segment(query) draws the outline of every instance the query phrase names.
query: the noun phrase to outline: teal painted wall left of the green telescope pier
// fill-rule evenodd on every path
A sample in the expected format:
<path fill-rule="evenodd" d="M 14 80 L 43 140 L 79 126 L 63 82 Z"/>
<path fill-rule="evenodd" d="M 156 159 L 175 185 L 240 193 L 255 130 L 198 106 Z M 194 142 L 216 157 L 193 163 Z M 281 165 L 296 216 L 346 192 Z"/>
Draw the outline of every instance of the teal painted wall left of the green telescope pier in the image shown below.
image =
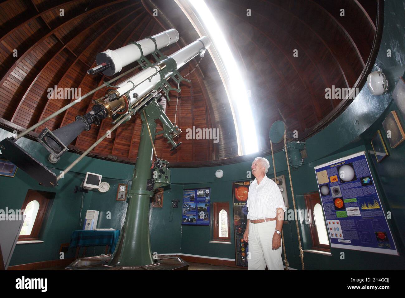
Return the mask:
<path fill-rule="evenodd" d="M 0 139 L 10 136 L 10 133 L 0 130 Z M 47 161 L 47 151 L 41 146 L 29 139 L 20 139 L 18 144 L 31 152 L 41 163 L 52 168 L 53 165 Z M 66 168 L 79 155 L 68 152 L 53 171 L 58 173 Z M 99 173 L 103 175 L 102 181 L 110 184 L 110 190 L 107 193 L 89 191 L 83 199 L 83 210 L 81 212 L 82 220 L 85 217 L 86 210 L 99 210 L 98 227 L 121 229 L 124 223 L 126 213 L 126 202 L 115 201 L 119 183 L 131 183 L 133 165 L 126 165 L 93 159 L 86 157 L 83 163 L 80 163 L 71 172 L 65 175 L 64 179 L 59 181 L 58 187 L 43 187 L 28 176 L 21 169 L 17 169 L 14 178 L 0 176 L 0 209 L 21 209 L 26 194 L 29 189 L 49 191 L 55 193 L 55 199 L 51 206 L 49 217 L 43 223 L 43 229 L 40 232 L 40 240 L 43 243 L 17 244 L 10 266 L 27 264 L 32 262 L 47 261 L 59 259 L 60 244 L 70 242 L 72 231 L 79 229 L 81 208 L 81 198 L 83 193 L 73 193 L 75 185 L 80 185 L 86 172 Z M 111 212 L 111 219 L 107 219 L 106 212 Z M 83 221 L 82 224 L 83 225 Z M 0 222 L 1 227 L 1 222 Z M 95 247 L 89 249 L 87 255 L 97 255 L 104 253 L 104 247 Z M 75 251 L 70 250 L 65 258 L 74 257 Z"/>

